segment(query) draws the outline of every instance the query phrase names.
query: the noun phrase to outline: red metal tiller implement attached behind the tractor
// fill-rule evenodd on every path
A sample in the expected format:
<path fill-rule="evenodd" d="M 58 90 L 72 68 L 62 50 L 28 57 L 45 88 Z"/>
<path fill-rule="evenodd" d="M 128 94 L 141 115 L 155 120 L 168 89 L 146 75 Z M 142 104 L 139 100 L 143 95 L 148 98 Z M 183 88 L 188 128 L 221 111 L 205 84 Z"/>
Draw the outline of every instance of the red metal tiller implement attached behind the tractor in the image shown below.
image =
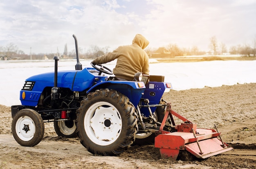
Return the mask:
<path fill-rule="evenodd" d="M 168 116 L 172 125 L 175 126 L 175 132 L 163 130 Z M 181 125 L 175 125 L 173 116 L 184 122 Z M 216 131 L 214 129 L 197 129 L 196 124 L 171 110 L 170 103 L 167 104 L 162 125 L 156 135 L 155 147 L 160 149 L 162 158 L 176 160 L 180 151 L 184 150 L 189 151 L 197 158 L 208 158 L 233 149 L 222 141 L 217 127 Z"/>

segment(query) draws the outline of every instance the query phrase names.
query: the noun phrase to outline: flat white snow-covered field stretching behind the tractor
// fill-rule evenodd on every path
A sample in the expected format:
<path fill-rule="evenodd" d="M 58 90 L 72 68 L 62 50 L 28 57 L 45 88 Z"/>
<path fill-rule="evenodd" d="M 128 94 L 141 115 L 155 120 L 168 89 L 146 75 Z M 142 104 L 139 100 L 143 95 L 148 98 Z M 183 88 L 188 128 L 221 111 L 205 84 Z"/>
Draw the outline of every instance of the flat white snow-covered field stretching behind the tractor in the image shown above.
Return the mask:
<path fill-rule="evenodd" d="M 150 75 L 164 75 L 174 90 L 185 90 L 237 83 L 256 82 L 256 60 L 206 61 L 160 63 L 150 60 Z M 91 67 L 91 60 L 80 60 L 84 67 Z M 74 70 L 76 60 L 59 60 L 58 70 Z M 113 69 L 115 61 L 104 64 Z M 54 71 L 54 60 L 0 61 L 0 105 L 20 105 L 19 93 L 25 79 Z"/>

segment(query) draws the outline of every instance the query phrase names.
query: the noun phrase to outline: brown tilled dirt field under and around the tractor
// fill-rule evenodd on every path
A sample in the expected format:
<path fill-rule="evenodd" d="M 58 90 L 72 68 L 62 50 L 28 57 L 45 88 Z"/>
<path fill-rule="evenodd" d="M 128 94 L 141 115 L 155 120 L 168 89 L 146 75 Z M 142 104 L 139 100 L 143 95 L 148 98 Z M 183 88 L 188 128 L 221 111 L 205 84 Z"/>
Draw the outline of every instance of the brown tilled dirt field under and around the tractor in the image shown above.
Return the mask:
<path fill-rule="evenodd" d="M 0 169 L 256 168 L 256 83 L 169 91 L 164 100 L 198 127 L 217 125 L 222 139 L 234 150 L 192 161 L 162 159 L 153 145 L 134 146 L 115 157 L 93 156 L 78 138 L 58 137 L 52 123 L 45 124 L 45 135 L 38 145 L 22 147 L 11 134 L 11 108 L 0 105 Z"/>

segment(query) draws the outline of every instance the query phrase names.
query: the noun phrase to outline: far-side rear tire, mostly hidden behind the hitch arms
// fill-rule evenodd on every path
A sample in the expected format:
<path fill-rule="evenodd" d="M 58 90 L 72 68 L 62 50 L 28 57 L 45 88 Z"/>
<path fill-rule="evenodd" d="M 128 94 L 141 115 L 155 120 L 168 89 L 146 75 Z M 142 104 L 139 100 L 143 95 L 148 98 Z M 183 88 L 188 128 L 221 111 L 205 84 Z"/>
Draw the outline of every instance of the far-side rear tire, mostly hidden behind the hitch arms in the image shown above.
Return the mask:
<path fill-rule="evenodd" d="M 159 104 L 164 105 L 166 102 L 161 99 Z M 157 122 L 162 122 L 165 115 L 165 106 L 160 106 L 155 109 L 154 118 Z M 145 124 L 146 125 L 146 124 Z M 133 145 L 153 145 L 155 143 L 155 133 L 137 133 Z"/>

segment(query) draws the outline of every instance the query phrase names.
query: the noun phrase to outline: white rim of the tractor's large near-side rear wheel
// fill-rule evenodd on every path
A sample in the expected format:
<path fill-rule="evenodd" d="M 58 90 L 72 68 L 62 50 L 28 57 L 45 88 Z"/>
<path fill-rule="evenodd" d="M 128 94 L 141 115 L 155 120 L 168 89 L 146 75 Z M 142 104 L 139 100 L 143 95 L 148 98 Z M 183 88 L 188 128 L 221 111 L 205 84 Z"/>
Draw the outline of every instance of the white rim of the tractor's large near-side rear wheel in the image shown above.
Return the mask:
<path fill-rule="evenodd" d="M 109 102 L 96 102 L 85 113 L 84 128 L 88 138 L 95 144 L 110 145 L 121 133 L 121 115 Z"/>

